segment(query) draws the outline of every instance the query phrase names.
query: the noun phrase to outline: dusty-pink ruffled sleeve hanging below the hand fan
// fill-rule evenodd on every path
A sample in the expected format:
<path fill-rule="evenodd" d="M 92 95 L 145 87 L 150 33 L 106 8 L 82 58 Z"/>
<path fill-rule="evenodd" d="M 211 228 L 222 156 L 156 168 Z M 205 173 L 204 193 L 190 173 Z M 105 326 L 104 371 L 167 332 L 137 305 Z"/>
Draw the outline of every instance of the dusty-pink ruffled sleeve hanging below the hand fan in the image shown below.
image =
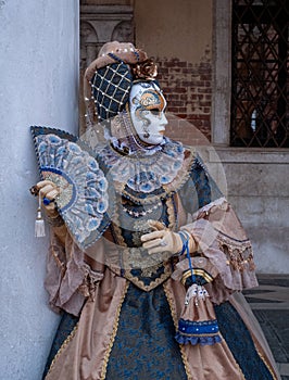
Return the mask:
<path fill-rule="evenodd" d="M 70 233 L 66 233 L 64 244 L 53 229 L 50 239 L 45 281 L 49 304 L 55 312 L 64 309 L 77 316 L 87 297 L 93 297 L 95 289 L 103 278 L 103 264 L 88 257 Z M 102 255 L 102 239 L 93 250 L 96 255 Z"/>

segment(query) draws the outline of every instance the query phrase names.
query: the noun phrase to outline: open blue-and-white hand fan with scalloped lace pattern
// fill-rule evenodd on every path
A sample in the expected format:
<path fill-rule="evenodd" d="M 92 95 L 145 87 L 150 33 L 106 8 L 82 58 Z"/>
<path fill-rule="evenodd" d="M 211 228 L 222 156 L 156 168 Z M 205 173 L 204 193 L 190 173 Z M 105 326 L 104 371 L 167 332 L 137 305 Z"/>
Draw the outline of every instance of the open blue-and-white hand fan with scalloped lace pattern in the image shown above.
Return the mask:
<path fill-rule="evenodd" d="M 93 244 L 109 226 L 108 181 L 85 144 L 63 130 L 32 127 L 42 179 L 60 189 L 58 211 L 80 249 Z"/>

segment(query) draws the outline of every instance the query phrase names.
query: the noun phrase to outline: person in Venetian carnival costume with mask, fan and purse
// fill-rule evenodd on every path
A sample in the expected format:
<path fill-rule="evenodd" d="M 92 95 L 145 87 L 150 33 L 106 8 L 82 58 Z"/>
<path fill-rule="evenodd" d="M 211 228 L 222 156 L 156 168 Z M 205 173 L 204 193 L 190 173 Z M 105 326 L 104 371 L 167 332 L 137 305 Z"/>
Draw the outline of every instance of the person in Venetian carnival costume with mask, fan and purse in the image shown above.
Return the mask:
<path fill-rule="evenodd" d="M 251 243 L 200 156 L 164 136 L 156 65 L 114 41 L 86 79 L 103 144 L 33 128 L 62 313 L 43 378 L 279 379 L 240 293 L 257 286 Z"/>

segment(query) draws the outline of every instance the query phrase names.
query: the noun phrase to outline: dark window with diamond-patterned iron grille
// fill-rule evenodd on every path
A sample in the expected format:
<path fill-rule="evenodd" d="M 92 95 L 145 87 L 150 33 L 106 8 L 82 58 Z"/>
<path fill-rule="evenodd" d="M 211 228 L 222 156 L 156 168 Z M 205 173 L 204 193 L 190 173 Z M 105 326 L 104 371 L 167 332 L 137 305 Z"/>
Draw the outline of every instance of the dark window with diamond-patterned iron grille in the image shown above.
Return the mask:
<path fill-rule="evenodd" d="M 288 0 L 233 0 L 234 147 L 289 148 L 288 29 Z"/>

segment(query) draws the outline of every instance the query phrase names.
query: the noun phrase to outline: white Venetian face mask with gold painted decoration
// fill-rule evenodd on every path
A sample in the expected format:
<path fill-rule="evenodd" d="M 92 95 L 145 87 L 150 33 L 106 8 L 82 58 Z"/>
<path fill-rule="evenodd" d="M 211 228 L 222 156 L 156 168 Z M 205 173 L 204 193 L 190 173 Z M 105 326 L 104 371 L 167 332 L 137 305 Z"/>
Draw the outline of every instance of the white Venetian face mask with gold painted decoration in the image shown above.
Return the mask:
<path fill-rule="evenodd" d="M 164 115 L 166 101 L 154 83 L 139 83 L 129 94 L 130 117 L 139 139 L 156 145 L 163 141 L 167 119 Z"/>

